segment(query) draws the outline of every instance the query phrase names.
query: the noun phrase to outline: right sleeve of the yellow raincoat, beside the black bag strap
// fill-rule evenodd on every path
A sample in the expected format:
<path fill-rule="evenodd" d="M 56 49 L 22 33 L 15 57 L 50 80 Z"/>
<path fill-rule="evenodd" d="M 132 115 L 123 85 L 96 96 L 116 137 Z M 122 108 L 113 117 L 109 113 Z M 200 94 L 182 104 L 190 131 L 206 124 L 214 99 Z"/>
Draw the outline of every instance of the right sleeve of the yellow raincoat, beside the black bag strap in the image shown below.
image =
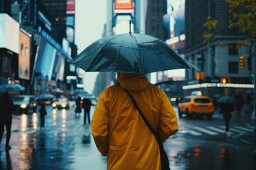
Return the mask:
<path fill-rule="evenodd" d="M 178 131 L 178 121 L 174 108 L 171 106 L 169 98 L 164 94 L 161 98 L 160 107 L 160 128 L 158 130 L 161 142 L 168 139 Z"/>

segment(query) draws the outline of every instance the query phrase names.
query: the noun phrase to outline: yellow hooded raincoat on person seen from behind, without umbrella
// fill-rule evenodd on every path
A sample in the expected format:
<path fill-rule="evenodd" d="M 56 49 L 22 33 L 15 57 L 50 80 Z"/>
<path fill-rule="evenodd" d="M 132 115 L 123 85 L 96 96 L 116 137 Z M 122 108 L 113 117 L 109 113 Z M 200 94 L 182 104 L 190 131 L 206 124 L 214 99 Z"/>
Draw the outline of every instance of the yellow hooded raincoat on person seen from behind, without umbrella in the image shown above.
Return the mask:
<path fill-rule="evenodd" d="M 159 87 L 144 74 L 117 73 L 117 84 L 100 94 L 92 116 L 92 137 L 107 169 L 161 169 L 156 137 L 134 107 L 127 89 L 161 141 L 178 131 L 174 108 Z"/>

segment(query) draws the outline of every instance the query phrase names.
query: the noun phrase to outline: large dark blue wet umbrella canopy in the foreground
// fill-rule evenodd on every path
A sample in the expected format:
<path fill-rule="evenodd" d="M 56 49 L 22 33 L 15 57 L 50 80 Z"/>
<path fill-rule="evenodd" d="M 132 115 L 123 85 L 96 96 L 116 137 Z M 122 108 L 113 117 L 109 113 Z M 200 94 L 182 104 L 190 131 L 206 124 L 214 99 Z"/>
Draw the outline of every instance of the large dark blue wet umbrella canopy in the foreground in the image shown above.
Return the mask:
<path fill-rule="evenodd" d="M 101 38 L 85 48 L 72 64 L 85 72 L 139 74 L 190 68 L 166 42 L 136 33 Z"/>

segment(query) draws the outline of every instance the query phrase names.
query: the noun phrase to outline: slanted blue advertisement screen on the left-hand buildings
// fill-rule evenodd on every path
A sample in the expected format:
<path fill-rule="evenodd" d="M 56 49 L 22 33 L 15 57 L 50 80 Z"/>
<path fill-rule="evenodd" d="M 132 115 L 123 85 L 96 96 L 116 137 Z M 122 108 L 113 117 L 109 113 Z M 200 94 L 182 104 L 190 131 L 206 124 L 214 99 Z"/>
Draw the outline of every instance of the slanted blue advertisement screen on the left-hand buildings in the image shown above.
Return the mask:
<path fill-rule="evenodd" d="M 43 37 L 40 38 L 36 51 L 34 73 L 40 74 L 50 81 L 53 74 L 53 64 L 55 61 L 56 49 L 50 45 Z"/>

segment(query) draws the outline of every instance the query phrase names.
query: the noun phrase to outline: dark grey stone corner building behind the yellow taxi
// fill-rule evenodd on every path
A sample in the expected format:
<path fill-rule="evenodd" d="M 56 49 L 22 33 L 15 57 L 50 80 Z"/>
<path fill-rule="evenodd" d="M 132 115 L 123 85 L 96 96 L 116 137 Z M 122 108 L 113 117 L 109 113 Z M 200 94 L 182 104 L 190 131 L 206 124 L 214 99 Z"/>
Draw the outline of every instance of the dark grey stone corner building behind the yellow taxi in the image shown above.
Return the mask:
<path fill-rule="evenodd" d="M 184 91 L 190 94 L 190 91 L 201 89 L 204 94 L 214 96 L 215 94 L 234 95 L 250 90 L 250 88 L 242 89 L 245 88 L 242 84 L 251 84 L 250 71 L 241 69 L 239 63 L 240 56 L 247 54 L 248 49 L 236 48 L 238 40 L 243 36 L 238 28 L 231 30 L 228 27 L 231 16 L 225 1 L 186 0 L 185 11 L 185 57 L 192 68 L 186 70 L 188 86 L 183 87 Z M 208 18 L 215 19 L 217 25 L 215 38 L 205 42 L 203 35 L 207 30 L 203 24 Z M 255 66 L 252 70 L 254 69 Z M 225 81 L 221 82 L 223 79 Z M 232 88 L 217 87 L 225 84 L 229 84 Z M 241 86 L 235 88 L 232 84 L 241 84 Z"/>

